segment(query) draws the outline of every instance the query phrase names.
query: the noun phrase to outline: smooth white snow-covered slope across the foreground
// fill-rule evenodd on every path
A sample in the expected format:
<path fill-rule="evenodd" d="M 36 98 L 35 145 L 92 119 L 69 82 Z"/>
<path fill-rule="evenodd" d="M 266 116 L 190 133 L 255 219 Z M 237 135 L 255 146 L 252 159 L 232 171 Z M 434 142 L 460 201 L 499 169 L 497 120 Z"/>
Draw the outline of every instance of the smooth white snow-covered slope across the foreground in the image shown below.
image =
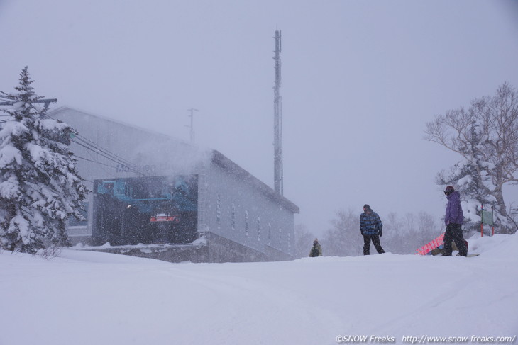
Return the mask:
<path fill-rule="evenodd" d="M 0 344 L 518 344 L 518 234 L 469 242 L 480 256 L 171 264 L 3 251 Z"/>

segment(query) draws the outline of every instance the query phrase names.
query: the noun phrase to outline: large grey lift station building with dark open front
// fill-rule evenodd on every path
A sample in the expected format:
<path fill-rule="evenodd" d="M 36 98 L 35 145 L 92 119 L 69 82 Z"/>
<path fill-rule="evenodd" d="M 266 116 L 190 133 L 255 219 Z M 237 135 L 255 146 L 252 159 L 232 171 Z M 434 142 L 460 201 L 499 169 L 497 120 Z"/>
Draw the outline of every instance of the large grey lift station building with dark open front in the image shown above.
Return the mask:
<path fill-rule="evenodd" d="M 215 150 L 72 108 L 71 149 L 91 190 L 73 244 L 167 261 L 274 261 L 294 253 L 299 208 Z"/>

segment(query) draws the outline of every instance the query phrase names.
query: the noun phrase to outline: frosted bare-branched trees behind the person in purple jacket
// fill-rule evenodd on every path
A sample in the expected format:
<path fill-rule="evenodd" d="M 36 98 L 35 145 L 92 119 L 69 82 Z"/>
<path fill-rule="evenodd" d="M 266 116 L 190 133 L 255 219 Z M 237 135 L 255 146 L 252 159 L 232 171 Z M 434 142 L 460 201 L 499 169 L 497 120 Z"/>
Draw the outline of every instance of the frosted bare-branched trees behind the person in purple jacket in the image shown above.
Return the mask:
<path fill-rule="evenodd" d="M 501 232 L 516 232 L 516 212 L 506 208 L 502 188 L 518 182 L 517 91 L 504 83 L 495 96 L 475 99 L 468 109 L 437 115 L 426 123 L 425 134 L 426 140 L 463 158 L 448 174 L 439 174 L 436 182 L 456 184 L 465 201 L 494 204 Z"/>

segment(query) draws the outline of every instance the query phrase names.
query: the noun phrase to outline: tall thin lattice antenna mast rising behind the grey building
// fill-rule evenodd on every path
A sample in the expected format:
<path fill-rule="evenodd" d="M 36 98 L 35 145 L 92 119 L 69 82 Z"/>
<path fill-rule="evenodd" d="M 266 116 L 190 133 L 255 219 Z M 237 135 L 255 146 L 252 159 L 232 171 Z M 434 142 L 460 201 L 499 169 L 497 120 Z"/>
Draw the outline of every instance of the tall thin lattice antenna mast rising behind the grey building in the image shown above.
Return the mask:
<path fill-rule="evenodd" d="M 275 30 L 275 86 L 273 87 L 273 181 L 281 196 L 282 187 L 282 97 L 280 96 L 280 30 Z"/>

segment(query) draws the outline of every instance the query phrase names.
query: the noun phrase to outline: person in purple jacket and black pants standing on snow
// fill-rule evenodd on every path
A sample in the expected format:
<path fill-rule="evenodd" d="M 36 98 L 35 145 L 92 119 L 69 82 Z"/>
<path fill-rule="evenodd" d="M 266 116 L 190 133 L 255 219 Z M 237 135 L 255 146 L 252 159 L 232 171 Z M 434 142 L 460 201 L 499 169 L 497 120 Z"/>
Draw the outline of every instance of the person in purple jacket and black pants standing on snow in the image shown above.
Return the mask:
<path fill-rule="evenodd" d="M 453 186 L 447 186 L 444 194 L 448 198 L 448 205 L 446 205 L 446 215 L 444 216 L 446 233 L 444 234 L 443 256 L 451 256 L 451 251 L 453 251 L 451 248 L 452 241 L 455 241 L 457 245 L 458 255 L 467 256 L 468 248 L 462 235 L 464 214 L 461 207 L 461 193 L 458 193 Z"/>

